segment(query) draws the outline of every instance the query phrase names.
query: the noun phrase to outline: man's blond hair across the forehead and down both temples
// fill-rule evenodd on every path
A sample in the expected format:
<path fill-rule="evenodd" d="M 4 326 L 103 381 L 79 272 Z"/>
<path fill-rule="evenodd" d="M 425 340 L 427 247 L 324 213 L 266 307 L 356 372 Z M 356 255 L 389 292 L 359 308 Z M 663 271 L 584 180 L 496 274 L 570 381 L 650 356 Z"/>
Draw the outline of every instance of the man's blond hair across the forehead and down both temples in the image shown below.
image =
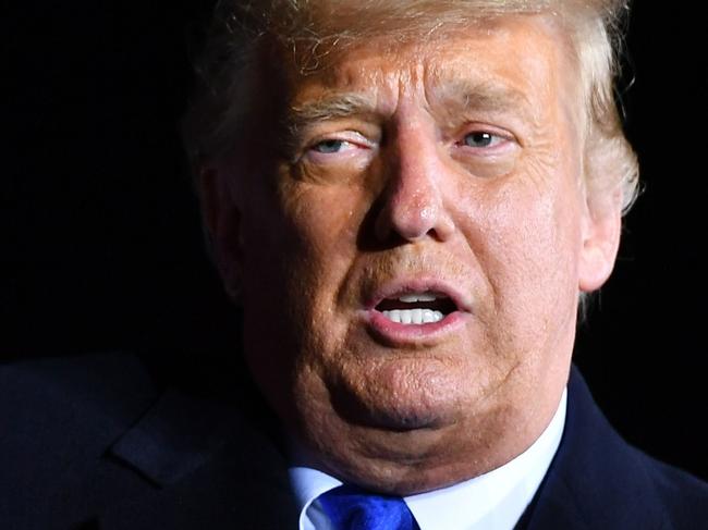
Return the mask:
<path fill-rule="evenodd" d="M 184 121 L 195 174 L 248 138 L 258 98 L 264 42 L 292 57 L 302 75 L 328 56 L 390 36 L 392 44 L 464 29 L 505 14 L 548 14 L 569 38 L 585 100 L 584 174 L 588 199 L 621 193 L 626 212 L 637 195 L 636 156 L 614 100 L 628 0 L 220 0 L 197 61 L 198 87 Z M 617 201 L 614 201 L 617 204 Z"/>

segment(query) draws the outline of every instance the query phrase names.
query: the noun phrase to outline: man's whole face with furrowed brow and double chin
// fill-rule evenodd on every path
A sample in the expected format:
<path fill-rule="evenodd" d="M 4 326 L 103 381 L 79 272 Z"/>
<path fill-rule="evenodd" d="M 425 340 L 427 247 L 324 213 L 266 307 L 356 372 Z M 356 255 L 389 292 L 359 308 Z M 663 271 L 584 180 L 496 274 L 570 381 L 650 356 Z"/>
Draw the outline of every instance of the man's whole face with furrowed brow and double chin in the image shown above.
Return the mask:
<path fill-rule="evenodd" d="M 392 41 L 265 90 L 291 134 L 254 126 L 257 147 L 220 170 L 212 225 L 243 284 L 246 358 L 301 449 L 408 493 L 540 434 L 578 291 L 613 250 L 598 260 L 590 237 L 581 90 L 557 29 L 516 16 Z"/>

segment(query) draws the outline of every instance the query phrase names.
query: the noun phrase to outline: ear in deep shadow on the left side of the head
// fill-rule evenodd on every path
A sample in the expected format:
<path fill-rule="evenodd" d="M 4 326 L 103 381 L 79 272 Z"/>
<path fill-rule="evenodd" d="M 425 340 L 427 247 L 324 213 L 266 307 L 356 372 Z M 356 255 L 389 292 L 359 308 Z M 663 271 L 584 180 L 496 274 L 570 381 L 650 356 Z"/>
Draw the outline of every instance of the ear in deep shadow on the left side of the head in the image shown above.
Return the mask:
<path fill-rule="evenodd" d="M 229 185 L 230 176 L 219 165 L 204 167 L 199 171 L 198 187 L 203 222 L 213 261 L 227 293 L 236 299 L 241 285 L 243 241 L 241 210 Z"/>

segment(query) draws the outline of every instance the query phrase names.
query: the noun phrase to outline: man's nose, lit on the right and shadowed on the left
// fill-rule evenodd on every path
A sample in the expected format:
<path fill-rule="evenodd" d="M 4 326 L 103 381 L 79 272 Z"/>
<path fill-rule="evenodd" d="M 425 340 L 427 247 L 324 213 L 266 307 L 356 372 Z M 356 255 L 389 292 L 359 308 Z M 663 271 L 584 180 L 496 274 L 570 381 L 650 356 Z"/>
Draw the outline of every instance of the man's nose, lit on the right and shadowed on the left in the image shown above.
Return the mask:
<path fill-rule="evenodd" d="M 411 243 L 445 241 L 455 231 L 444 200 L 454 183 L 431 133 L 410 124 L 384 153 L 388 181 L 375 224 L 380 242 L 395 235 Z"/>

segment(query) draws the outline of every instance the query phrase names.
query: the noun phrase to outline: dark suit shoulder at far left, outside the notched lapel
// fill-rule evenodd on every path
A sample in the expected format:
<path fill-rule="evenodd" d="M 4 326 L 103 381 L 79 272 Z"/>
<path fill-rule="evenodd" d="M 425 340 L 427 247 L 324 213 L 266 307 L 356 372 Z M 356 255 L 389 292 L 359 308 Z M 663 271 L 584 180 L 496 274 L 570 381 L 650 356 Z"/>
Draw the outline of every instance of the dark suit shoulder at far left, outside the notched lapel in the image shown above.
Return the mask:
<path fill-rule="evenodd" d="M 33 359 L 0 367 L 0 519 L 61 528 L 78 513 L 110 444 L 156 398 L 137 358 L 121 354 Z M 97 484 L 98 485 L 98 484 Z M 78 505 L 84 505 L 82 508 Z"/>

